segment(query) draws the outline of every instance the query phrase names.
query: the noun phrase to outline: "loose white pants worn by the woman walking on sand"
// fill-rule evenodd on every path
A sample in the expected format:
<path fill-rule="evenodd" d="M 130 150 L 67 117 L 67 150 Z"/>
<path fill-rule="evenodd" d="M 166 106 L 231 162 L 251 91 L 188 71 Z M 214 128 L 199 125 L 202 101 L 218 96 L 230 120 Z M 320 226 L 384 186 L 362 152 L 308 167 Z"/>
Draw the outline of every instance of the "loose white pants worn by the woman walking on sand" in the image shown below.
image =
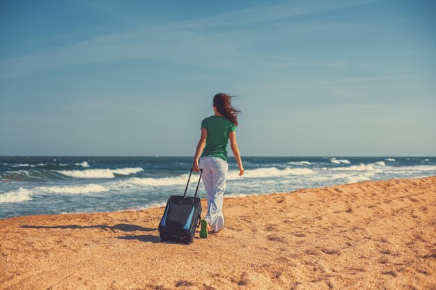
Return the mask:
<path fill-rule="evenodd" d="M 203 169 L 201 179 L 208 193 L 208 214 L 204 219 L 217 232 L 224 229 L 223 198 L 228 164 L 221 158 L 204 156 L 198 167 Z"/>

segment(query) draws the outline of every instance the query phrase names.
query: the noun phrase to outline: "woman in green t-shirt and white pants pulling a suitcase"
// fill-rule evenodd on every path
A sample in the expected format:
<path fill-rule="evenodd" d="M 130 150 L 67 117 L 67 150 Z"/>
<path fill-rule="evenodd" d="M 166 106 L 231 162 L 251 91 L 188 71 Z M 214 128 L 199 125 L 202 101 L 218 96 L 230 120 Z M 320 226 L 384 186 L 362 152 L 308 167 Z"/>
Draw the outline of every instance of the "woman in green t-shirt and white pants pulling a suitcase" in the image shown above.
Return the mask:
<path fill-rule="evenodd" d="M 203 169 L 203 184 L 208 193 L 208 213 L 201 220 L 201 238 L 208 237 L 209 225 L 212 232 L 224 229 L 223 195 L 226 190 L 227 143 L 230 139 L 231 149 L 239 166 L 239 175 L 244 174 L 244 167 L 236 144 L 236 127 L 241 111 L 233 108 L 232 96 L 218 93 L 213 97 L 214 115 L 201 122 L 201 137 L 198 141 L 192 169 Z M 201 159 L 200 159 L 201 156 Z M 198 166 L 198 159 L 200 165 Z"/>

